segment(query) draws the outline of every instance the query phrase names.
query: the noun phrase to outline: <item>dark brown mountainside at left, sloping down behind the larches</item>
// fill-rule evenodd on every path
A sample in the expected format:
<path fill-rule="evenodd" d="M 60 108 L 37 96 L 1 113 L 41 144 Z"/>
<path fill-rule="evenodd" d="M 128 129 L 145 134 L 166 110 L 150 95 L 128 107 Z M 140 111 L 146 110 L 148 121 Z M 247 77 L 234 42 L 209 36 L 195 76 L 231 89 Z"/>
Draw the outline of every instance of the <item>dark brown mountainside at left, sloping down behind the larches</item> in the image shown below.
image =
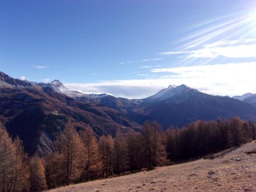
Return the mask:
<path fill-rule="evenodd" d="M 89 124 L 96 135 L 114 135 L 117 130 L 139 128 L 137 123 L 113 108 L 78 101 L 51 87 L 31 85 L 10 77 L 5 80 L 1 79 L 2 85 L 8 86 L 0 88 L 0 120 L 13 137 L 23 140 L 30 154 L 51 152 L 55 148 L 53 141 L 68 119 L 75 123 L 77 130 Z"/>

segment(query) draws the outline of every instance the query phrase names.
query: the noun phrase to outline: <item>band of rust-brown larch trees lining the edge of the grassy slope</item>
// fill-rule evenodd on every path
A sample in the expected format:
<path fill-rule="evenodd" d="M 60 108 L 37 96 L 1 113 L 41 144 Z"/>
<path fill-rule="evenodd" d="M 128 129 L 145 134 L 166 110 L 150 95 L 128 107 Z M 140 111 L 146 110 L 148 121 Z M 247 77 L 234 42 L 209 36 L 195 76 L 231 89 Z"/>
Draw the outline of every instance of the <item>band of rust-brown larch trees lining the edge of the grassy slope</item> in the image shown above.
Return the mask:
<path fill-rule="evenodd" d="M 197 121 L 166 132 L 146 122 L 140 132 L 117 132 L 97 139 L 91 127 L 77 132 L 69 120 L 47 157 L 24 153 L 22 141 L 0 128 L 1 191 L 40 191 L 119 176 L 137 170 L 202 157 L 255 140 L 254 122 L 233 117 L 216 122 Z M 211 156 L 208 156 L 209 158 Z"/>

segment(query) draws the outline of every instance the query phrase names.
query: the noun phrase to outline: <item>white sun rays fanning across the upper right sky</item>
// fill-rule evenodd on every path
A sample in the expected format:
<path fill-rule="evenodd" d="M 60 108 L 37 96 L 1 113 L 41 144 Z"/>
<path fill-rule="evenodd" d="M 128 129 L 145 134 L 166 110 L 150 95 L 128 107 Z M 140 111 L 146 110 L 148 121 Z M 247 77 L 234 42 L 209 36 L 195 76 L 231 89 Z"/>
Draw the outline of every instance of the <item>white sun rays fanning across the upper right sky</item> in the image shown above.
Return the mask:
<path fill-rule="evenodd" d="M 198 30 L 195 31 L 196 28 Z M 187 30 L 193 32 L 191 35 L 178 40 L 180 43 L 184 42 L 176 48 L 179 51 L 188 51 L 194 47 L 202 47 L 211 41 L 256 38 L 256 13 L 255 11 L 250 11 L 249 14 L 241 12 L 222 16 L 208 22 L 199 23 Z"/>

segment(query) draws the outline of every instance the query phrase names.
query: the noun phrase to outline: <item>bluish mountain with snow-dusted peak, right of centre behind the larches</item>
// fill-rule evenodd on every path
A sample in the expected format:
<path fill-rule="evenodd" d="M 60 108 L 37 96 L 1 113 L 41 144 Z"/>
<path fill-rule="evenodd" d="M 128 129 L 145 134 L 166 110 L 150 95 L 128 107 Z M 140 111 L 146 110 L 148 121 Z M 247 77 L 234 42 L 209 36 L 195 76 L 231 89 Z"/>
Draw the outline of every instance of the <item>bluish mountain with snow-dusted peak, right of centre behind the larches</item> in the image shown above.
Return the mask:
<path fill-rule="evenodd" d="M 157 120 L 163 128 L 181 127 L 195 120 L 216 120 L 240 116 L 256 119 L 256 108 L 230 97 L 201 93 L 188 86 L 170 86 L 143 100 L 129 112 L 129 117 L 138 123 Z"/>

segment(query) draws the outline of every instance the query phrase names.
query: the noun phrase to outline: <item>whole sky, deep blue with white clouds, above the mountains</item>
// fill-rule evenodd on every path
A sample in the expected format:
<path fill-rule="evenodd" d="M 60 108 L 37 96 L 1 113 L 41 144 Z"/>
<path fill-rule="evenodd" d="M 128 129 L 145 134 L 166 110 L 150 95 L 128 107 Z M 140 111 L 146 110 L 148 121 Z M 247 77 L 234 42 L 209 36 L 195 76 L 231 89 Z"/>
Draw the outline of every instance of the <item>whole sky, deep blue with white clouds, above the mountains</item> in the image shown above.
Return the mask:
<path fill-rule="evenodd" d="M 256 93 L 256 2 L 1 0 L 0 70 L 84 93 Z"/>

